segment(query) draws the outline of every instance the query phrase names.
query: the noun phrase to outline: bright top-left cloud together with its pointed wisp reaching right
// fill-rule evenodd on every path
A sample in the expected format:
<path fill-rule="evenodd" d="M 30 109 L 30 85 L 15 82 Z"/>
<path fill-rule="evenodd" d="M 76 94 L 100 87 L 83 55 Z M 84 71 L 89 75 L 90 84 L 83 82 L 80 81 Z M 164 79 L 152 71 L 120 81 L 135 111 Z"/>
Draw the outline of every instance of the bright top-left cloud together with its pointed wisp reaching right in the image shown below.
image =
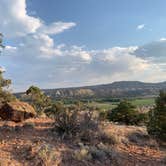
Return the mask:
<path fill-rule="evenodd" d="M 45 25 L 41 19 L 27 14 L 26 0 L 0 0 L 0 4 L 0 30 L 6 37 L 25 36 L 38 31 L 57 34 L 75 26 L 73 22 Z"/>

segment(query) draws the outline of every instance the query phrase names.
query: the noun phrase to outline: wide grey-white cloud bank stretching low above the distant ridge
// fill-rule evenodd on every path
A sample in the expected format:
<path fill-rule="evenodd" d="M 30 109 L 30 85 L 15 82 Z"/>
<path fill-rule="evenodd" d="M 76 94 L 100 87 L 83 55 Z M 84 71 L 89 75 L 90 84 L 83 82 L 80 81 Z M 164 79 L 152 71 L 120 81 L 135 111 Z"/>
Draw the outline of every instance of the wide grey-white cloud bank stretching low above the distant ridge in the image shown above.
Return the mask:
<path fill-rule="evenodd" d="M 48 59 L 35 56 L 40 51 L 38 47 L 32 48 L 31 52 L 28 46 L 25 46 L 27 48 L 17 48 L 15 53 L 1 58 L 1 63 L 4 62 L 5 67 L 9 69 L 9 76 L 14 80 L 16 90 L 23 90 L 31 84 L 55 88 L 118 80 L 166 79 L 160 65 L 135 55 L 138 47 L 86 51 L 85 48 L 78 46 L 57 46 L 60 52 L 58 54 L 53 52 L 55 48 L 47 47 L 51 56 Z"/>

